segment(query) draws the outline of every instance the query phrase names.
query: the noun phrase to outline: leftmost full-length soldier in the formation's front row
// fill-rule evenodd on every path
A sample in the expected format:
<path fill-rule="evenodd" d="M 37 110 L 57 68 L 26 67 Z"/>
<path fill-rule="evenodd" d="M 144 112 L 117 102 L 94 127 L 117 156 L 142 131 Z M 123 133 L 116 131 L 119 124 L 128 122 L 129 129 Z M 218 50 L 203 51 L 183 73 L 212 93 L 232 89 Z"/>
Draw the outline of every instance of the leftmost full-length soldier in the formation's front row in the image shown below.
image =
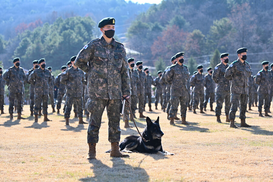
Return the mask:
<path fill-rule="evenodd" d="M 10 67 L 3 75 L 3 79 L 9 83 L 9 118 L 13 120 L 13 109 L 15 98 L 17 99 L 17 120 L 25 119 L 21 117 L 23 102 L 23 86 L 26 78 L 24 70 L 20 66 L 20 58 L 13 59 L 14 66 Z"/>

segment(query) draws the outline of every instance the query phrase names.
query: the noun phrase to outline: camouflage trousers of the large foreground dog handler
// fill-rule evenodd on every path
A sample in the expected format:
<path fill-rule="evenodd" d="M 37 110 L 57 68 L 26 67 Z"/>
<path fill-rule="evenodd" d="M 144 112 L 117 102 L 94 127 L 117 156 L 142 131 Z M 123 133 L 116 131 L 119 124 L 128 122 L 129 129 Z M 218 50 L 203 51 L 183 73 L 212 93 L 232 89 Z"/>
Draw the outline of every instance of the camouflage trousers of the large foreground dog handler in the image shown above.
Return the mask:
<path fill-rule="evenodd" d="M 108 141 L 111 143 L 119 142 L 121 100 L 88 98 L 86 107 L 90 112 L 87 143 L 99 142 L 99 128 L 105 107 L 108 117 Z"/>

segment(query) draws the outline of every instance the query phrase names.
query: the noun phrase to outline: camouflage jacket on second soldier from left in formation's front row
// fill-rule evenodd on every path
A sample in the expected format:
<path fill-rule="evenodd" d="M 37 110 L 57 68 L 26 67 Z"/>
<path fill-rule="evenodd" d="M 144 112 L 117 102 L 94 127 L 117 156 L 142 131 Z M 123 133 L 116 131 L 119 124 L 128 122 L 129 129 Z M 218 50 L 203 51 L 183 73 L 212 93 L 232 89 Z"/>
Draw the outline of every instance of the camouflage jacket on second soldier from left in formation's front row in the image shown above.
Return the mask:
<path fill-rule="evenodd" d="M 35 69 L 29 75 L 29 83 L 34 85 L 34 93 L 41 95 L 48 95 L 49 92 L 49 82 L 51 82 L 52 76 L 48 69 L 42 70 L 41 68 Z"/>

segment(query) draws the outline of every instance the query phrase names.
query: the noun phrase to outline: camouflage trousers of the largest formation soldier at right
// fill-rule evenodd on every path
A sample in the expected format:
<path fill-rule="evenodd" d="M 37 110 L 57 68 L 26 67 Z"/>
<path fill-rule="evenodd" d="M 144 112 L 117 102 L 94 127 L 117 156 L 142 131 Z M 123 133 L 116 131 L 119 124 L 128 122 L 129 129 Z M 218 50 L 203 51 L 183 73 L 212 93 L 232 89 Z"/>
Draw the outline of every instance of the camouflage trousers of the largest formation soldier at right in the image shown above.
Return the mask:
<path fill-rule="evenodd" d="M 240 113 L 239 118 L 244 120 L 245 112 L 248 105 L 248 94 L 241 94 L 241 93 L 231 93 L 231 108 L 229 111 L 229 119 L 235 120 L 235 114 L 238 110 L 238 106 L 240 106 Z"/>

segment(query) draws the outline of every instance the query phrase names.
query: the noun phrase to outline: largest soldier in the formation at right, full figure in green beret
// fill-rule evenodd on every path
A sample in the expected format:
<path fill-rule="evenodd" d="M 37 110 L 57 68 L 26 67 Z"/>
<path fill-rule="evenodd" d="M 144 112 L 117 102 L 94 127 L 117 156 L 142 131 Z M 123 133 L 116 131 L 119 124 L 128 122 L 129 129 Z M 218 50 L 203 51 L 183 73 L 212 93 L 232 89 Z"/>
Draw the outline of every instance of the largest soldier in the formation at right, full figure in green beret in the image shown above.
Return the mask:
<path fill-rule="evenodd" d="M 231 80 L 231 108 L 229 111 L 229 120 L 231 128 L 238 128 L 234 124 L 235 114 L 240 106 L 241 127 L 250 127 L 245 123 L 245 112 L 248 103 L 248 77 L 251 75 L 251 70 L 247 59 L 247 48 L 237 50 L 238 59 L 229 65 L 225 72 L 225 78 Z M 240 102 L 240 104 L 239 104 Z"/>

